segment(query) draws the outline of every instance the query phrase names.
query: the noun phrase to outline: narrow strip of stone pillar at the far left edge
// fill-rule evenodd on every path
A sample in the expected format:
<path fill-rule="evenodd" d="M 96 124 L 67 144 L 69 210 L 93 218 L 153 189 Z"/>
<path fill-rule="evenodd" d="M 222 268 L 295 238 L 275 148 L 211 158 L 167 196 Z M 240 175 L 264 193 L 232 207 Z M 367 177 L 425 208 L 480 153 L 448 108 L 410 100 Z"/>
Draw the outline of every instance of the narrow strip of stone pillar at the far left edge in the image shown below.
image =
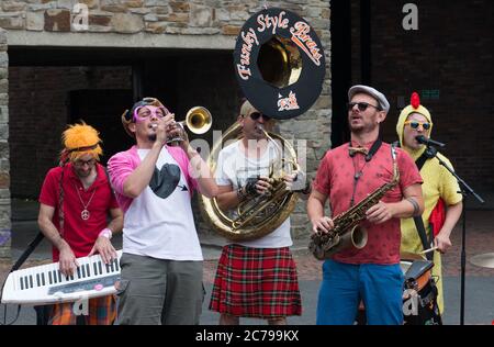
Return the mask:
<path fill-rule="evenodd" d="M 10 257 L 9 57 L 0 29 L 0 258 Z"/>

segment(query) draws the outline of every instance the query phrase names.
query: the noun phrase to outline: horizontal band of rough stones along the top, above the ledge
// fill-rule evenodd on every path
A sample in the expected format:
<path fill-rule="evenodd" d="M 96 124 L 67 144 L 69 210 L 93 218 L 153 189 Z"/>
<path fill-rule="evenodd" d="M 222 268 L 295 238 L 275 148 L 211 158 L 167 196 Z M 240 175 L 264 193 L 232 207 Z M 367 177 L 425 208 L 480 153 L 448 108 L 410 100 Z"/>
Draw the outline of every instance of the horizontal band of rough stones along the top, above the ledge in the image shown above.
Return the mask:
<path fill-rule="evenodd" d="M 281 7 L 304 16 L 314 27 L 327 30 L 328 1 L 242 0 L 3 0 L 0 27 L 34 32 L 237 35 L 239 27 L 263 4 Z M 80 16 L 88 10 L 87 27 Z"/>

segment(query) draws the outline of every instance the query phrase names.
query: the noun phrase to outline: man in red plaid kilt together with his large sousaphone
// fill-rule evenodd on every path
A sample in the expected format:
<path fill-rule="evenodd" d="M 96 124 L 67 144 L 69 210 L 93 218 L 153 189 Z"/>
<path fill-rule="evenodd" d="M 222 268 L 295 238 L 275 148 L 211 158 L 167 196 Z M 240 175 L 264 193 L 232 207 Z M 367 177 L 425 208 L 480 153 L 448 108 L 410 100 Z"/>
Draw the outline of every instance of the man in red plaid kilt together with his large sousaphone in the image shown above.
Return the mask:
<path fill-rule="evenodd" d="M 297 192 L 307 194 L 310 184 L 294 149 L 272 128 L 276 120 L 297 116 L 317 99 L 324 54 L 306 21 L 267 9 L 243 26 L 234 68 L 247 100 L 209 158 L 220 193 L 202 199 L 215 230 L 231 240 L 210 309 L 221 313 L 220 324 L 238 324 L 239 317 L 285 324 L 287 316 L 302 312 L 289 216 Z"/>

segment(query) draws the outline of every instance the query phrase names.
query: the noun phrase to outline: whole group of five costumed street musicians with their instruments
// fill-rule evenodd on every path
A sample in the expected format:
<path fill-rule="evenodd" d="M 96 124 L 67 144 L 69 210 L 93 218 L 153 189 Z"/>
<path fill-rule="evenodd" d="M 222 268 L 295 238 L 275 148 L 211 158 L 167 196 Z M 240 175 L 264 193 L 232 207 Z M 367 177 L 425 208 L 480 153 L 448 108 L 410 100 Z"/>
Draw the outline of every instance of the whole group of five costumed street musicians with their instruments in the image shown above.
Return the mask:
<path fill-rule="evenodd" d="M 67 280 L 78 273 L 80 258 L 94 255 L 105 265 L 117 259 L 120 277 L 111 294 L 90 300 L 83 317 L 71 302 L 45 307 L 48 324 L 197 325 L 204 305 L 221 325 L 238 325 L 243 317 L 284 325 L 291 316 L 310 314 L 290 249 L 299 198 L 306 208 L 308 249 L 322 266 L 314 323 L 352 325 L 363 316 L 370 325 L 409 324 L 405 307 L 427 296 L 413 322 L 440 324 L 440 255 L 451 247 L 462 195 L 437 157 L 451 167 L 449 160 L 418 139 L 430 136 L 430 112 L 413 93 L 397 117 L 396 142 L 386 143 L 380 130 L 390 122 L 390 102 L 377 88 L 352 86 L 349 142 L 328 149 L 318 167 L 305 172 L 300 166 L 305 158 L 300 160 L 276 128 L 318 98 L 322 87 L 312 90 L 308 82 L 322 85 L 324 54 L 303 19 L 276 11 L 255 14 L 283 18 L 276 37 L 256 27 L 255 15 L 246 23 L 244 37 L 254 37 L 248 53 L 260 56 L 255 49 L 261 45 L 273 54 L 300 52 L 292 59 L 303 64 L 299 82 L 290 81 L 299 67 L 283 65 L 270 75 L 272 61 L 247 64 L 239 41 L 236 54 L 243 56 L 236 60 L 244 65 L 237 78 L 245 98 L 231 110 L 235 122 L 212 150 L 194 148 L 186 130 L 207 131 L 209 111 L 191 109 L 183 125 L 168 109 L 167 96 L 127 105 L 120 122 L 134 145 L 112 154 L 106 167 L 100 164 L 104 138 L 98 130 L 83 121 L 67 126 L 60 165 L 41 189 L 40 228 Z M 303 35 L 287 48 L 294 27 Z M 304 51 L 307 44 L 313 49 Z M 268 75 L 272 80 L 248 86 Z M 198 209 L 211 232 L 225 238 L 209 302 Z M 119 254 L 111 242 L 116 233 L 123 235 Z M 427 283 L 418 284 L 425 277 Z"/>

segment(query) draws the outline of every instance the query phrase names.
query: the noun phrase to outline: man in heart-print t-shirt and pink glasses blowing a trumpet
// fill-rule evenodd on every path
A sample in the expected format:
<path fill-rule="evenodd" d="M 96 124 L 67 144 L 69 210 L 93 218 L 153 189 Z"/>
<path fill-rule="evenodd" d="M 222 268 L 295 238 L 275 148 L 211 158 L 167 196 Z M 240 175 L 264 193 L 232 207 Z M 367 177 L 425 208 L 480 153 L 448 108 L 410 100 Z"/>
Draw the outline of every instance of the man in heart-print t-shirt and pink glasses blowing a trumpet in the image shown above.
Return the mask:
<path fill-rule="evenodd" d="M 117 323 L 199 324 L 203 257 L 191 197 L 215 197 L 216 182 L 158 99 L 136 102 L 122 123 L 136 144 L 108 163 L 125 212 Z M 170 135 L 179 146 L 166 145 Z"/>

